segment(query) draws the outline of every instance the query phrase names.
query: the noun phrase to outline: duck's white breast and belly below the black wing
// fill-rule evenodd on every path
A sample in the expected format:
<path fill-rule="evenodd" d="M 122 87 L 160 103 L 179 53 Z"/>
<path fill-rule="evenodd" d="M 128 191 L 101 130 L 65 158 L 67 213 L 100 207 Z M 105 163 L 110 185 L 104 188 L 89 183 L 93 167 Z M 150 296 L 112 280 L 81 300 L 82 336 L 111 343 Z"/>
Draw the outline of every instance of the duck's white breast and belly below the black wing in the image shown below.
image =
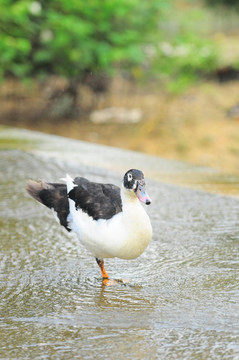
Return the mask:
<path fill-rule="evenodd" d="M 82 244 L 97 258 L 134 259 L 142 254 L 152 237 L 152 228 L 143 207 L 127 206 L 109 220 L 93 220 L 70 202 L 69 225 Z"/>

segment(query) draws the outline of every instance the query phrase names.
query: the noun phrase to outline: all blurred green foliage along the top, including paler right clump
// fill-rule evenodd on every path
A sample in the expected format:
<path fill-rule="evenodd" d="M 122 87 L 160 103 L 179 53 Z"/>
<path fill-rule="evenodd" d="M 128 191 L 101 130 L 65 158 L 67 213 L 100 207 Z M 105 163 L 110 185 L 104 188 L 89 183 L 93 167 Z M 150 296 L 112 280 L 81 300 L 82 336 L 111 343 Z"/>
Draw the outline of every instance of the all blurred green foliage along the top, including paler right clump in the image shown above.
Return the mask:
<path fill-rule="evenodd" d="M 0 78 L 84 79 L 124 69 L 138 79 L 169 80 L 170 90 L 181 91 L 215 67 L 217 54 L 191 30 L 165 34 L 160 24 L 171 6 L 167 0 L 1 0 Z"/>

